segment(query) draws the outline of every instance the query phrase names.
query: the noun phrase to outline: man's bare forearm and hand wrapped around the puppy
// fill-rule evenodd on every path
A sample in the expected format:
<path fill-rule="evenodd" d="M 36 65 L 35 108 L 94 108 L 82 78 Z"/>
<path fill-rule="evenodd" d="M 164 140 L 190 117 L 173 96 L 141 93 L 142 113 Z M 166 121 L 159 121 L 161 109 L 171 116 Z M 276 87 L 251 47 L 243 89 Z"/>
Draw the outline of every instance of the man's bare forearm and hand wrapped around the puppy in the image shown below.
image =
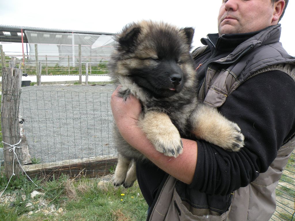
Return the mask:
<path fill-rule="evenodd" d="M 177 158 L 168 157 L 155 150 L 145 134 L 137 126 L 141 104 L 132 95 L 124 102 L 115 90 L 111 98 L 114 121 L 122 137 L 135 149 L 144 154 L 160 169 L 184 183 L 191 184 L 197 163 L 196 141 L 182 139 L 183 152 Z"/>

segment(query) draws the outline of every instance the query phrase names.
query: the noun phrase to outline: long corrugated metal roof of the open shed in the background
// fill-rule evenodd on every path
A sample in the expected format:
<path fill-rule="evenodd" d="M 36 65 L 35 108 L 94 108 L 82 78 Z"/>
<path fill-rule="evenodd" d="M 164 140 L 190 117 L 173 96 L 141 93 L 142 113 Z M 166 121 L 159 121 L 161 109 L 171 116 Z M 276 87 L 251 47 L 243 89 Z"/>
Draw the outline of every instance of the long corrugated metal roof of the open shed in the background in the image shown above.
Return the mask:
<path fill-rule="evenodd" d="M 56 33 L 115 35 L 115 33 L 108 33 L 108 32 L 91 32 L 91 31 L 66 30 L 66 29 L 48 29 L 48 28 L 0 25 L 0 42 L 22 43 L 22 32 L 23 32 L 23 43 L 29 43 L 24 31 L 42 32 L 42 34 L 44 34 L 44 32 L 49 32 L 51 34 L 54 33 L 54 35 L 56 35 Z"/>

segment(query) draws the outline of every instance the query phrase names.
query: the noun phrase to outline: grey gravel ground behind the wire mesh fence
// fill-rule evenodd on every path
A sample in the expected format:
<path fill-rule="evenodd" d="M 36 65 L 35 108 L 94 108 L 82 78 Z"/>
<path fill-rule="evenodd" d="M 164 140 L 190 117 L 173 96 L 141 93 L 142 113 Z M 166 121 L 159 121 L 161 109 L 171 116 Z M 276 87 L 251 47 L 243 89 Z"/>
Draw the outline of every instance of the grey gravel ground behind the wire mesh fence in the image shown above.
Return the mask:
<path fill-rule="evenodd" d="M 115 85 L 22 88 L 20 115 L 30 155 L 41 163 L 116 154 L 110 97 Z"/>

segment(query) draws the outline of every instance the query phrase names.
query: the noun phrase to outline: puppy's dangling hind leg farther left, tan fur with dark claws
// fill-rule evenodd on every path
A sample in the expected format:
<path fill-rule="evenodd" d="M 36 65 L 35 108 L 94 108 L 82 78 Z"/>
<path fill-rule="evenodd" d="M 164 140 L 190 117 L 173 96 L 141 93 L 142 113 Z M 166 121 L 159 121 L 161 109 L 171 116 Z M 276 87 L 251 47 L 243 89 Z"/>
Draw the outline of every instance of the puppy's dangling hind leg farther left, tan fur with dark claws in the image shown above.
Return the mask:
<path fill-rule="evenodd" d="M 129 168 L 130 159 L 118 154 L 118 163 L 113 177 L 114 186 L 118 187 L 125 182 L 126 174 Z"/>

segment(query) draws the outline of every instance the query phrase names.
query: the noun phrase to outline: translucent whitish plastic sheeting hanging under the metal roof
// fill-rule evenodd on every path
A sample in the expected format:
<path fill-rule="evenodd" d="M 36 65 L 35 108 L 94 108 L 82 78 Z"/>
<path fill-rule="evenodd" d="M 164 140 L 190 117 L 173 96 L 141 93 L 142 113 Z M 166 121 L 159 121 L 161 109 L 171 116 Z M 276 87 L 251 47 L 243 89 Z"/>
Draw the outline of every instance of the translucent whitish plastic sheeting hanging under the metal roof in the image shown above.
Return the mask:
<path fill-rule="evenodd" d="M 30 53 L 28 63 L 35 66 L 35 44 L 38 47 L 38 61 L 48 66 L 78 66 L 79 44 L 81 44 L 81 62 L 97 65 L 109 60 L 115 41 L 112 35 L 54 33 L 25 31 Z"/>

